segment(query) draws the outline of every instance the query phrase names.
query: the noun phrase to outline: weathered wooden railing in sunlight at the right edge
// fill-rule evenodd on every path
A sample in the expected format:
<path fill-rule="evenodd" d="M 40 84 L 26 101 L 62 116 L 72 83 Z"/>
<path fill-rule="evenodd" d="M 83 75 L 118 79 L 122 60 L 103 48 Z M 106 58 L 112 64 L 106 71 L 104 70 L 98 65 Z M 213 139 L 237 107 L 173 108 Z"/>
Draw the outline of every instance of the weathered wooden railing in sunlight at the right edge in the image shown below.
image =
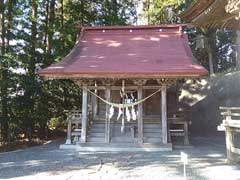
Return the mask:
<path fill-rule="evenodd" d="M 227 158 L 231 162 L 240 162 L 240 107 L 220 107 L 224 120 L 219 131 L 225 131 Z"/>

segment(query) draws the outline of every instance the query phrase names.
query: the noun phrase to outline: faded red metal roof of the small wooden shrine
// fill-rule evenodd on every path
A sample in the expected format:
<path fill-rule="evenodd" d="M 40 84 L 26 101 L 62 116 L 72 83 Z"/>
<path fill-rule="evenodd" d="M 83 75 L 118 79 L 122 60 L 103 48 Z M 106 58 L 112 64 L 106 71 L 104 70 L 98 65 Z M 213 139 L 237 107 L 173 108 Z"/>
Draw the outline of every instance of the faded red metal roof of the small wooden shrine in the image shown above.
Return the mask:
<path fill-rule="evenodd" d="M 194 61 L 181 27 L 85 27 L 72 51 L 39 74 L 54 78 L 206 75 L 207 70 Z"/>

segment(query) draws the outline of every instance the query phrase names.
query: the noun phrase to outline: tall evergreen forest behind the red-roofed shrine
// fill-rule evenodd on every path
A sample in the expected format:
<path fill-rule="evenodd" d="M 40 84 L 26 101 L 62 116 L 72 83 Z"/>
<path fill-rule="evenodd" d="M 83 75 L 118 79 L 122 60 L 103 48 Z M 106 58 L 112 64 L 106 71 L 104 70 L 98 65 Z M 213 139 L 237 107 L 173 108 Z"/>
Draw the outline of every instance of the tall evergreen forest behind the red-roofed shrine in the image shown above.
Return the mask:
<path fill-rule="evenodd" d="M 48 139 L 63 125 L 66 111 L 81 107 L 81 90 L 74 83 L 44 81 L 37 74 L 70 52 L 79 27 L 186 23 L 178 15 L 191 2 L 0 0 L 0 144 Z M 211 74 L 239 69 L 236 31 L 184 31 L 195 57 Z M 199 46 L 201 37 L 207 39 L 204 46 Z"/>

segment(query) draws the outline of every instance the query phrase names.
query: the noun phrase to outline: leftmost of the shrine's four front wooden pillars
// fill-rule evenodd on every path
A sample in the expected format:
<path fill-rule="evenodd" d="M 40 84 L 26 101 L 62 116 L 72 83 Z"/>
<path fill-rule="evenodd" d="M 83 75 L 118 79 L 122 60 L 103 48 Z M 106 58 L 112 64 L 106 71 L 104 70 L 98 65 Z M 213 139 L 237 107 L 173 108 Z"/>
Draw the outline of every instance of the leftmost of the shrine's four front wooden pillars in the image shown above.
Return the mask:
<path fill-rule="evenodd" d="M 87 139 L 87 85 L 83 84 L 82 88 L 82 132 L 81 143 L 86 143 Z"/>

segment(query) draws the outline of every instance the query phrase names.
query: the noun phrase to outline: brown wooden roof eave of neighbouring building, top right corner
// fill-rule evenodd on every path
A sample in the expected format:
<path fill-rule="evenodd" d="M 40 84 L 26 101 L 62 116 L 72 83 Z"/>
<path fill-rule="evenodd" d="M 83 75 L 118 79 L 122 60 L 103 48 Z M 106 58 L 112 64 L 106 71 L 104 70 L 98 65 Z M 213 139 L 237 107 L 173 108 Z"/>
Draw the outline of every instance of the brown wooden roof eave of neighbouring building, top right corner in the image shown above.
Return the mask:
<path fill-rule="evenodd" d="M 236 3 L 235 11 L 229 10 L 229 3 Z M 180 17 L 183 20 L 191 21 L 196 27 L 240 29 L 237 18 L 240 16 L 240 10 L 237 11 L 240 8 L 238 3 L 237 0 L 209 0 L 206 2 L 197 0 L 180 14 Z"/>

